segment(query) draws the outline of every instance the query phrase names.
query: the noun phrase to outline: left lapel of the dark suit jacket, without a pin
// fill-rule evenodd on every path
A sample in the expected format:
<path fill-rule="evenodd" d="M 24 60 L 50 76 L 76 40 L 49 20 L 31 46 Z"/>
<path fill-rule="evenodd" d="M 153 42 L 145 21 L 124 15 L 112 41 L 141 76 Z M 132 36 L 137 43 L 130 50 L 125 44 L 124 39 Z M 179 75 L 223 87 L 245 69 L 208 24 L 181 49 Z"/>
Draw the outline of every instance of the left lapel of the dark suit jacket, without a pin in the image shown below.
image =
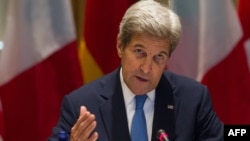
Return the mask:
<path fill-rule="evenodd" d="M 110 81 L 114 79 L 115 82 Z M 109 85 L 105 85 L 104 94 L 109 96 L 105 97 L 106 102 L 101 105 L 100 109 L 109 141 L 129 141 L 130 135 L 119 70 L 111 75 L 107 82 Z"/>

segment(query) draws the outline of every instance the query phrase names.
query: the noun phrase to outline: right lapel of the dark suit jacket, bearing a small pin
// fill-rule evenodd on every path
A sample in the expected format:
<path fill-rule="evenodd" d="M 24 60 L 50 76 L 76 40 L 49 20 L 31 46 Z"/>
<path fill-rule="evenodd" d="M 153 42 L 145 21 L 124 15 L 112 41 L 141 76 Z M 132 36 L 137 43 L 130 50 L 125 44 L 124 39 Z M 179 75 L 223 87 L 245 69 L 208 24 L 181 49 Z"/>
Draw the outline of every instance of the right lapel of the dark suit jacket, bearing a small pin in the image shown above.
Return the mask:
<path fill-rule="evenodd" d="M 156 134 L 159 129 L 164 129 L 169 139 L 174 140 L 175 108 L 172 88 L 163 76 L 156 88 L 152 141 L 157 141 Z"/>

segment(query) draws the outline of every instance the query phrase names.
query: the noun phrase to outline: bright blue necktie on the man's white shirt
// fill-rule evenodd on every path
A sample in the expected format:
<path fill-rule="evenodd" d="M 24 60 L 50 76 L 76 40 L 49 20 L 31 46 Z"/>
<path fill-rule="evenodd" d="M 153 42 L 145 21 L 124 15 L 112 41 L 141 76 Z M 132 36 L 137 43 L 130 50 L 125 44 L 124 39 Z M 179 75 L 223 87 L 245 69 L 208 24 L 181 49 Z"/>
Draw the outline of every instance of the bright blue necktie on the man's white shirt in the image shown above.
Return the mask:
<path fill-rule="evenodd" d="M 143 105 L 147 95 L 135 96 L 136 108 L 132 120 L 131 141 L 148 141 L 146 119 L 143 111 Z"/>

